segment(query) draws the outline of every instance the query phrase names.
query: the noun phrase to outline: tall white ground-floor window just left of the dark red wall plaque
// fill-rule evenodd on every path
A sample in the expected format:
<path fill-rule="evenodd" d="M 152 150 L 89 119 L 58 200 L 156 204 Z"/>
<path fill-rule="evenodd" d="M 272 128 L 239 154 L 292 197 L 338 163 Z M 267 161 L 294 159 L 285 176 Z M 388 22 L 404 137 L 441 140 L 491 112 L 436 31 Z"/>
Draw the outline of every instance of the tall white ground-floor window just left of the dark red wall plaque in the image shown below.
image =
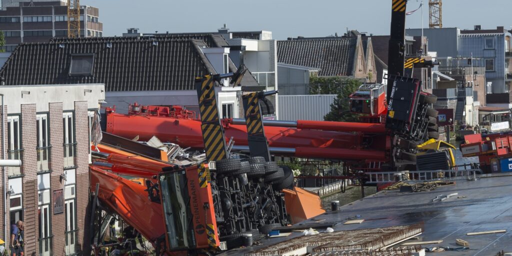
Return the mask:
<path fill-rule="evenodd" d="M 52 255 L 52 238 L 50 232 L 50 189 L 38 192 L 39 207 L 39 256 Z"/>

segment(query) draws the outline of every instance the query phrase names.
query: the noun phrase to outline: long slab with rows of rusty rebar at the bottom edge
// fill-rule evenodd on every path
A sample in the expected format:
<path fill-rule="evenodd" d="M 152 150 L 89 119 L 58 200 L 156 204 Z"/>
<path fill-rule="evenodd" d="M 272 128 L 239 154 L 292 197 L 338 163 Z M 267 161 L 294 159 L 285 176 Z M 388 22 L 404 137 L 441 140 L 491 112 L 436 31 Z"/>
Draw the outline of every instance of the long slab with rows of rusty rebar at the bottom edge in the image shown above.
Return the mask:
<path fill-rule="evenodd" d="M 348 251 L 354 252 L 354 250 L 366 250 L 366 253 L 368 253 L 369 250 L 375 251 L 383 249 L 387 246 L 410 239 L 411 237 L 418 236 L 421 232 L 423 232 L 423 223 L 410 226 L 334 231 L 331 233 L 319 233 L 313 236 L 293 238 L 288 241 L 247 252 L 245 255 L 303 255 L 308 251 L 312 252 L 312 254 L 318 253 L 318 255 L 321 254 L 320 252 L 336 252 L 338 255 L 349 255 Z M 347 254 L 342 254 L 342 252 L 346 252 Z"/>

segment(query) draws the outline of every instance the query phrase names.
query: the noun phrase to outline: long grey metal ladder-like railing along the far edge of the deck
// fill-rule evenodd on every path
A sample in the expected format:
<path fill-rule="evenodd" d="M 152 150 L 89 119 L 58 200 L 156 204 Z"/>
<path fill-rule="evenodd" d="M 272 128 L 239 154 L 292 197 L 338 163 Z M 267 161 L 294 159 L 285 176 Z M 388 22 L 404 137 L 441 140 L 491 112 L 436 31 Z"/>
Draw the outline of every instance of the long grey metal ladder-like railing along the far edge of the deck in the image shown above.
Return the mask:
<path fill-rule="evenodd" d="M 370 178 L 365 183 L 386 183 L 402 180 L 412 181 L 432 181 L 432 180 L 456 180 L 465 177 L 475 177 L 481 174 L 480 169 L 462 169 L 462 170 L 414 170 L 403 172 L 375 172 L 366 173 Z"/>

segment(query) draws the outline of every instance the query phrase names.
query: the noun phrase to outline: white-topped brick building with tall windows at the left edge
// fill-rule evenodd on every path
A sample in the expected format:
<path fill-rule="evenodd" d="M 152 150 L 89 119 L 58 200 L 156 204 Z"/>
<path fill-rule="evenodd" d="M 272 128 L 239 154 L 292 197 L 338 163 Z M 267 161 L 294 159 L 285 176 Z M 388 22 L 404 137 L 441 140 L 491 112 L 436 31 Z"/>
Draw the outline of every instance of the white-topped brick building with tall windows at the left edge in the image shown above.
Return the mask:
<path fill-rule="evenodd" d="M 10 224 L 23 220 L 26 255 L 89 253 L 89 131 L 104 91 L 103 84 L 0 87 L 3 158 L 22 160 L 2 169 L 1 236 L 9 241 Z"/>

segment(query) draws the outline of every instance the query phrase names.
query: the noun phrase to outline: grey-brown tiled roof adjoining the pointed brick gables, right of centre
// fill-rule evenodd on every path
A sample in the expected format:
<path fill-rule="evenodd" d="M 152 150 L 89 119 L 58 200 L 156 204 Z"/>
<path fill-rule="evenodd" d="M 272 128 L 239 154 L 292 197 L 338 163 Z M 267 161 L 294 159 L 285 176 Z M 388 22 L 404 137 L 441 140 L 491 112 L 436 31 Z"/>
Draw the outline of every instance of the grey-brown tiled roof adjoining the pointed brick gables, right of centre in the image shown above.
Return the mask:
<path fill-rule="evenodd" d="M 278 62 L 321 69 L 319 76 L 350 76 L 357 37 L 278 41 Z"/>

